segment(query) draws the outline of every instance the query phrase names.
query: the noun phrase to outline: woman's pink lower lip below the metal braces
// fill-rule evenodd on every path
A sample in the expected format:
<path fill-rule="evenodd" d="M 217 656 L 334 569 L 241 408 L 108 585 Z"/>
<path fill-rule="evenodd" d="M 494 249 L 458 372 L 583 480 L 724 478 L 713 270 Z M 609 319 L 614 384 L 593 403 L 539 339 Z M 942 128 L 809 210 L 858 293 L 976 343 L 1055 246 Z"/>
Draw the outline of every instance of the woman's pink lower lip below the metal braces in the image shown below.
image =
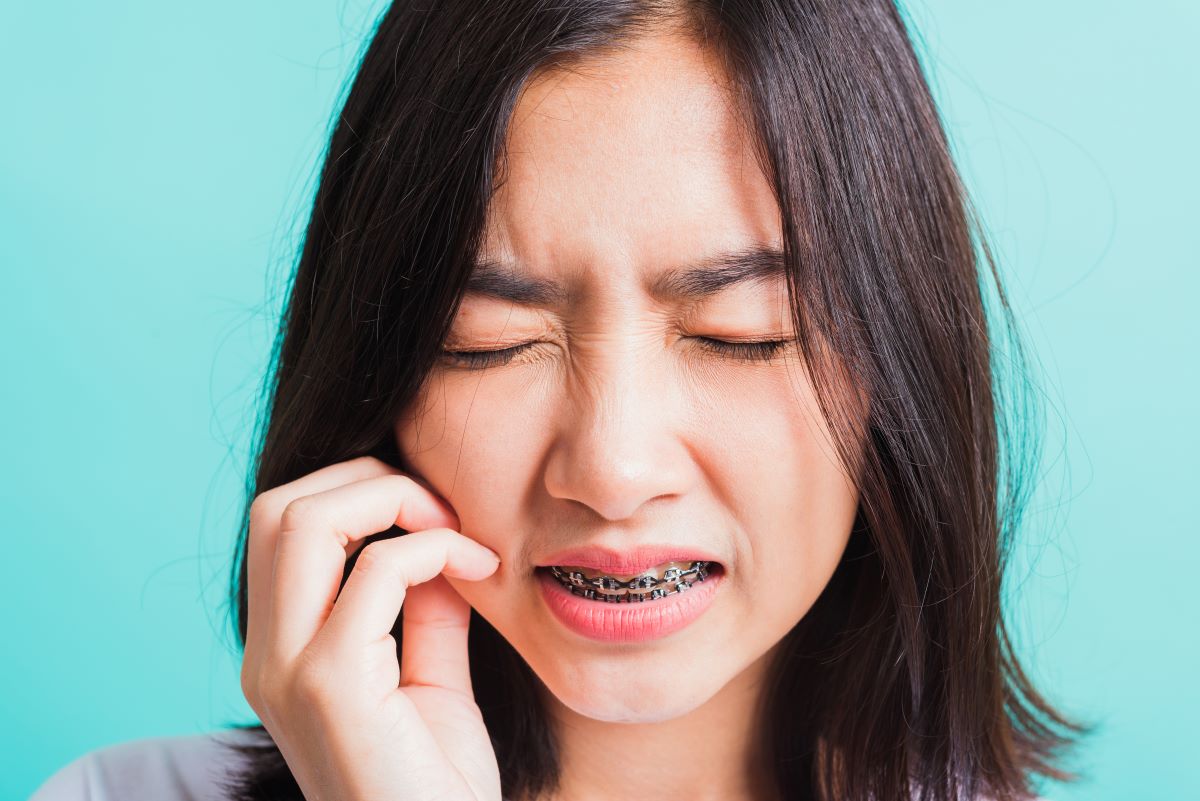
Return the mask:
<path fill-rule="evenodd" d="M 535 576 L 546 606 L 576 634 L 604 643 L 642 643 L 695 622 L 713 604 L 725 571 L 715 568 L 683 592 L 632 603 L 592 601 L 572 594 L 548 571 L 539 570 Z"/>

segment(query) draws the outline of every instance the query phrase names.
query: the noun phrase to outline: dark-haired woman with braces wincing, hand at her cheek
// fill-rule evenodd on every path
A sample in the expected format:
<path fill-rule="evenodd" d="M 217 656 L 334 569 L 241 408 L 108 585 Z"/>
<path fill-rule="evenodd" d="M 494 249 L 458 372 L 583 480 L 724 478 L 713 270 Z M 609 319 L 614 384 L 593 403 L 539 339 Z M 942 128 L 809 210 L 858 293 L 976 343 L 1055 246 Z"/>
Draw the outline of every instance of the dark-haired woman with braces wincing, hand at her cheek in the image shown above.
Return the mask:
<path fill-rule="evenodd" d="M 976 230 L 890 0 L 396 4 L 244 520 L 263 728 L 43 797 L 85 767 L 310 801 L 1069 778 L 1084 729 L 1001 614 L 1024 412 Z"/>

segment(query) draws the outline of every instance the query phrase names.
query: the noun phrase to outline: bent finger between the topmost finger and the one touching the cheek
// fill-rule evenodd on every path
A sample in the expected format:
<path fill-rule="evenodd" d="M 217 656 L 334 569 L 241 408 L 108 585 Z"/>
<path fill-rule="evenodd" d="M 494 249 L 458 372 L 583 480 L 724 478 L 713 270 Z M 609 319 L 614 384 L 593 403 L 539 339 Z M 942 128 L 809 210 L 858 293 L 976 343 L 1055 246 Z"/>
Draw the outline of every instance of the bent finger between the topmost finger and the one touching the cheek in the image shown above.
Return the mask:
<path fill-rule="evenodd" d="M 443 505 L 403 475 L 362 478 L 292 501 L 283 510 L 275 547 L 270 654 L 290 661 L 324 625 L 337 597 L 349 543 L 392 525 L 413 531 L 451 523 Z"/>

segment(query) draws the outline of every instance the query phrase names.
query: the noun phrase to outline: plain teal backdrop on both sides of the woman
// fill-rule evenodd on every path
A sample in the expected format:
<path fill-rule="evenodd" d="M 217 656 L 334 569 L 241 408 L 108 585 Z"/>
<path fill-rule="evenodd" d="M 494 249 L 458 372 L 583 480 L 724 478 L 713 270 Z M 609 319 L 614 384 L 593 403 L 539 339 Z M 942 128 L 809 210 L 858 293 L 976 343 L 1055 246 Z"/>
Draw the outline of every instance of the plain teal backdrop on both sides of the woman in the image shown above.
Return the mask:
<path fill-rule="evenodd" d="M 0 799 L 251 717 L 222 604 L 254 391 L 382 7 L 0 7 Z M 1100 729 L 1045 795 L 1200 799 L 1200 5 L 907 7 L 1049 410 L 1012 618 Z"/>

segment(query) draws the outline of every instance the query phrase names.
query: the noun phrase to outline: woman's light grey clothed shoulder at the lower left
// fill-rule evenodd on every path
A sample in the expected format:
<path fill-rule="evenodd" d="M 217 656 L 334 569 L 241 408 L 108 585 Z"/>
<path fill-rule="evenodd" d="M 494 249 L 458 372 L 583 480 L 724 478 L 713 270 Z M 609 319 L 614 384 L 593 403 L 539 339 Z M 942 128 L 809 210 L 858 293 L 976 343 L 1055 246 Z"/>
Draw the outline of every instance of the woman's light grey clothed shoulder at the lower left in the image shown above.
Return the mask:
<path fill-rule="evenodd" d="M 226 729 L 97 748 L 61 767 L 29 801 L 221 801 L 242 761 L 234 747 L 251 736 Z"/>

